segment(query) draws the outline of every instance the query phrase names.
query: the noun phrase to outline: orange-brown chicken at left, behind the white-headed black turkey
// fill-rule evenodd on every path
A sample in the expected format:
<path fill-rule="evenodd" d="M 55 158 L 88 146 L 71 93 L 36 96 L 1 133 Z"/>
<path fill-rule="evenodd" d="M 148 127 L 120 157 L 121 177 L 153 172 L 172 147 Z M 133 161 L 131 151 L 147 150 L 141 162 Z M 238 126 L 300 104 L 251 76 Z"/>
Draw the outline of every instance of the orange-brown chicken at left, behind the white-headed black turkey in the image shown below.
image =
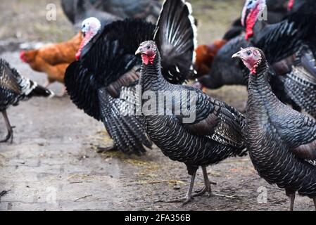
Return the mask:
<path fill-rule="evenodd" d="M 69 41 L 58 44 L 47 44 L 40 49 L 22 51 L 20 58 L 37 72 L 45 72 L 48 77 L 46 87 L 53 82 L 64 83 L 65 70 L 75 61 L 75 55 L 82 41 L 79 32 Z M 65 94 L 65 90 L 61 95 Z"/>

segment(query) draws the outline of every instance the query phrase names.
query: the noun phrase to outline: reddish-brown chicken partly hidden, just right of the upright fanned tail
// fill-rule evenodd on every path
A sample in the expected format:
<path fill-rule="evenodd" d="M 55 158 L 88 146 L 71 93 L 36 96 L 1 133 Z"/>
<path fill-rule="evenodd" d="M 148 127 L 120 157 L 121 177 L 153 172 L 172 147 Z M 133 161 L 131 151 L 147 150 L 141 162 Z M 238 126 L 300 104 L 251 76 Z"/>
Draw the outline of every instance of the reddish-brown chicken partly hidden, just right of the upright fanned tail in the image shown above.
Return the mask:
<path fill-rule="evenodd" d="M 213 44 L 200 45 L 196 48 L 196 63 L 194 65 L 198 77 L 208 74 L 217 51 L 226 44 L 225 40 L 216 40 Z"/>

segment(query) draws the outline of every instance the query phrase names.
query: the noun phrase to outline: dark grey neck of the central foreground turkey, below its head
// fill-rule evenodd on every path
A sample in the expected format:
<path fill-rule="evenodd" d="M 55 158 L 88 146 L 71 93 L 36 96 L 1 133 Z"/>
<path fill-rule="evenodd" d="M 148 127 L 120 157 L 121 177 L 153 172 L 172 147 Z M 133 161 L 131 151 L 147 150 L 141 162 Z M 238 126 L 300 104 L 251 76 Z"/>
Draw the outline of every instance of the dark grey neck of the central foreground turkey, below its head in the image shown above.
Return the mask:
<path fill-rule="evenodd" d="M 161 73 L 160 55 L 156 54 L 153 64 L 141 65 L 141 77 L 139 79 L 142 91 L 159 91 L 165 89 L 170 83 L 165 80 Z"/>

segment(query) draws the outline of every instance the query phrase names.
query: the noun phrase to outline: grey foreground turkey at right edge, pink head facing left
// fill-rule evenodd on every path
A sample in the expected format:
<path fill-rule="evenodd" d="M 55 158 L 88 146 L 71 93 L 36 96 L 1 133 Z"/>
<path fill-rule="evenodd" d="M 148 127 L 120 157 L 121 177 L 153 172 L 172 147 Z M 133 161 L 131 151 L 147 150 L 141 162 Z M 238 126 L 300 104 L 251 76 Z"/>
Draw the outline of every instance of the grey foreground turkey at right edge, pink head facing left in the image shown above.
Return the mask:
<path fill-rule="evenodd" d="M 254 47 L 234 54 L 251 71 L 246 114 L 246 147 L 255 169 L 284 188 L 293 210 L 296 192 L 316 210 L 316 121 L 284 105 L 268 82 L 265 54 Z"/>

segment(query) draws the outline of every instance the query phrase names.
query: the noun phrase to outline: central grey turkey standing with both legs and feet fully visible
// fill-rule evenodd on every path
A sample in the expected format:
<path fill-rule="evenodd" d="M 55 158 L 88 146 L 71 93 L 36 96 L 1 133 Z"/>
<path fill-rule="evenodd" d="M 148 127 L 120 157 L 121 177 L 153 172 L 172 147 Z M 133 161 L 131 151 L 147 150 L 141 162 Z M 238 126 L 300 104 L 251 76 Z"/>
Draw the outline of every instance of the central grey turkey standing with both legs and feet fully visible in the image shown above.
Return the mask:
<path fill-rule="evenodd" d="M 140 44 L 136 54 L 141 54 L 143 62 L 139 86 L 146 133 L 164 155 L 187 165 L 191 176 L 184 198 L 187 204 L 194 196 L 211 193 L 208 165 L 246 154 L 242 135 L 244 117 L 199 89 L 170 84 L 163 76 L 160 52 L 154 41 Z M 205 186 L 192 195 L 198 167 L 203 169 Z"/>

